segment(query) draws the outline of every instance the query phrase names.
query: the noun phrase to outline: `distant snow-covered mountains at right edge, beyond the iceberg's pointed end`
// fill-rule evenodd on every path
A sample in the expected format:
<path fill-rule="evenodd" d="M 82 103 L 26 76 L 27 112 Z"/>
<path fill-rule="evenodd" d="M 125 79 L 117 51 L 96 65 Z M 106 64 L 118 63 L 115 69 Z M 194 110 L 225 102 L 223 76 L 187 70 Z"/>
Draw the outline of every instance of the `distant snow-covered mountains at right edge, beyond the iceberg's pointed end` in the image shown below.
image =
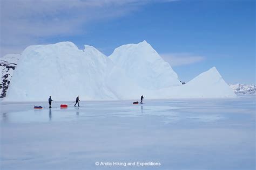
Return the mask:
<path fill-rule="evenodd" d="M 247 85 L 247 84 L 228 84 L 234 90 L 236 94 L 255 94 L 255 85 Z"/>

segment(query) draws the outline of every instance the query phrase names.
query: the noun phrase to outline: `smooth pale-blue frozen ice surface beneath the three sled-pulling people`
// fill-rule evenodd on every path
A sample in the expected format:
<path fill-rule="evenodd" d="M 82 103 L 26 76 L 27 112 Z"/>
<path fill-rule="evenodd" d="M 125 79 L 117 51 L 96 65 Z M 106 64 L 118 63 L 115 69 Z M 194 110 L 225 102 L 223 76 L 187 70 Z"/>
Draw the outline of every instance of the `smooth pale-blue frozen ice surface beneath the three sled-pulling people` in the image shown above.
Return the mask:
<path fill-rule="evenodd" d="M 255 96 L 132 102 L 1 103 L 1 169 L 255 169 Z"/>

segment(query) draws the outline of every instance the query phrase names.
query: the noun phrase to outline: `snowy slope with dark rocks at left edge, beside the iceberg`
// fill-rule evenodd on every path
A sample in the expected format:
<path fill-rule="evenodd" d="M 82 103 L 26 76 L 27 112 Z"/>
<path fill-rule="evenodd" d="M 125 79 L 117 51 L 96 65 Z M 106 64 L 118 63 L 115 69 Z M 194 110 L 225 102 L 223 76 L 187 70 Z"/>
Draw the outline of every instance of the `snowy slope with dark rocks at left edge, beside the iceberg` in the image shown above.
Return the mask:
<path fill-rule="evenodd" d="M 2 72 L 0 79 L 0 98 L 6 96 L 6 91 L 9 87 L 10 80 L 17 66 L 20 54 L 7 54 L 0 58 L 0 69 Z"/>

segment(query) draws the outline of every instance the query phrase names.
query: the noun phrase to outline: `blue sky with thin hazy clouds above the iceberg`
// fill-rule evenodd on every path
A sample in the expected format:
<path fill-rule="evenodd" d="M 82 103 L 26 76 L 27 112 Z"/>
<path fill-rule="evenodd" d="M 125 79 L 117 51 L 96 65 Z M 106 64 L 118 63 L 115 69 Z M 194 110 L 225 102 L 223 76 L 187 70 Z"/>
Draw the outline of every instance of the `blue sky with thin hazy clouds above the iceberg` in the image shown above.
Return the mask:
<path fill-rule="evenodd" d="M 1 56 L 72 41 L 110 55 L 146 40 L 181 81 L 215 66 L 227 83 L 255 80 L 254 0 L 1 0 Z"/>

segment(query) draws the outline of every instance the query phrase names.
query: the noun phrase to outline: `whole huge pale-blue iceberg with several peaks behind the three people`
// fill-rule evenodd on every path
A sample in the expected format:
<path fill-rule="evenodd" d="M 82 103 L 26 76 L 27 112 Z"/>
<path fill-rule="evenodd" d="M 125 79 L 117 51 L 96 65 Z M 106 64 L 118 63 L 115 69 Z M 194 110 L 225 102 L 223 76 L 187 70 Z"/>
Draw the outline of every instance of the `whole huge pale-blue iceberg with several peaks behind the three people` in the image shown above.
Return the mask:
<path fill-rule="evenodd" d="M 25 83 L 24 83 L 25 82 Z M 27 47 L 4 101 L 133 100 L 236 97 L 213 67 L 183 84 L 146 41 L 117 47 L 107 57 L 72 42 Z"/>

